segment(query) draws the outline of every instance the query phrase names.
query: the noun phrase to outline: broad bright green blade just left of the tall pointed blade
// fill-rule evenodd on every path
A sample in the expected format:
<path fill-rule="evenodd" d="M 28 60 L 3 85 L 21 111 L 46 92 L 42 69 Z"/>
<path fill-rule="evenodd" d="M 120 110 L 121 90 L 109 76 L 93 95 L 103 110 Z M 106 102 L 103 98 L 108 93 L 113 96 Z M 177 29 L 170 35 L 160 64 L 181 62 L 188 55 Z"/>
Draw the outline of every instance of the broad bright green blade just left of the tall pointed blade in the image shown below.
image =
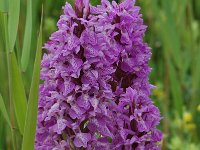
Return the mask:
<path fill-rule="evenodd" d="M 20 133 L 23 135 L 27 110 L 27 99 L 20 69 L 14 52 L 10 53 L 12 101 Z"/>

